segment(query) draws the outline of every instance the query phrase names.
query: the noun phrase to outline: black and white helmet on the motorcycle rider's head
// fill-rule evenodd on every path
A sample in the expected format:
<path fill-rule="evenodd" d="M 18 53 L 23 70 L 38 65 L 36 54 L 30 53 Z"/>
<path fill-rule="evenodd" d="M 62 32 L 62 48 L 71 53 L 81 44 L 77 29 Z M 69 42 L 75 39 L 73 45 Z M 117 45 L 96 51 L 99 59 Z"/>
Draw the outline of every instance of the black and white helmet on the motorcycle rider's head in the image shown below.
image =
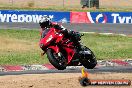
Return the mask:
<path fill-rule="evenodd" d="M 51 18 L 48 16 L 43 16 L 39 21 L 39 25 L 41 28 L 49 28 L 51 24 Z"/>

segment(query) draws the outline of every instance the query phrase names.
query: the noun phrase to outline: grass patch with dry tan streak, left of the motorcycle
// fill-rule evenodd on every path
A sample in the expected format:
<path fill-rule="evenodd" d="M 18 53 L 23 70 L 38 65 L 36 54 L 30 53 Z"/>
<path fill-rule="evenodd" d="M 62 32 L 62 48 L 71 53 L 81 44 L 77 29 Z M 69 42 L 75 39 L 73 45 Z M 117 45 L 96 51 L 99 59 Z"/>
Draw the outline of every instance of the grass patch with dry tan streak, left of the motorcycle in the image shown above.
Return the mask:
<path fill-rule="evenodd" d="M 39 37 L 37 30 L 0 30 L 0 64 L 48 63 L 46 56 L 40 56 L 42 51 L 38 45 Z M 2 41 L 5 45 L 1 45 Z M 11 44 L 13 41 L 16 44 Z"/>

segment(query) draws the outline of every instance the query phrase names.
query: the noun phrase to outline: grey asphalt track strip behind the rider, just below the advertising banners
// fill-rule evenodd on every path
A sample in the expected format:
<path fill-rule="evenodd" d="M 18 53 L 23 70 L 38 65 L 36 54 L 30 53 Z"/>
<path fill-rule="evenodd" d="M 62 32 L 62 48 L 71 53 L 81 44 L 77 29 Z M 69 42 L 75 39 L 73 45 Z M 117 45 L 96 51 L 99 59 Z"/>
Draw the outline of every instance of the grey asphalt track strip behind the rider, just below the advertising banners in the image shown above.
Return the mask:
<path fill-rule="evenodd" d="M 63 24 L 67 29 L 80 32 L 115 33 L 132 35 L 132 24 Z M 0 23 L 0 29 L 40 29 L 38 23 Z"/>

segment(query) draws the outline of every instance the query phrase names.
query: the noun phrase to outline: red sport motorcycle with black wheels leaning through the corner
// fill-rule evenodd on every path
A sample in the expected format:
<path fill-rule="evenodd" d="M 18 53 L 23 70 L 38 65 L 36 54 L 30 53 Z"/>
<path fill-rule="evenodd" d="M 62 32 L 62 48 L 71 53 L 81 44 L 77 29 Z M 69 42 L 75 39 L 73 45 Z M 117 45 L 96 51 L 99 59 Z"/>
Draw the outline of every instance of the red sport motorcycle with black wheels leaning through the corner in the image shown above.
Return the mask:
<path fill-rule="evenodd" d="M 81 40 L 79 32 L 75 32 L 75 37 Z M 50 28 L 40 39 L 40 47 L 47 54 L 49 62 L 58 70 L 66 69 L 67 66 L 83 65 L 87 69 L 93 69 L 96 64 L 94 53 L 82 45 L 83 50 L 78 50 L 75 43 L 66 38 L 59 30 Z"/>

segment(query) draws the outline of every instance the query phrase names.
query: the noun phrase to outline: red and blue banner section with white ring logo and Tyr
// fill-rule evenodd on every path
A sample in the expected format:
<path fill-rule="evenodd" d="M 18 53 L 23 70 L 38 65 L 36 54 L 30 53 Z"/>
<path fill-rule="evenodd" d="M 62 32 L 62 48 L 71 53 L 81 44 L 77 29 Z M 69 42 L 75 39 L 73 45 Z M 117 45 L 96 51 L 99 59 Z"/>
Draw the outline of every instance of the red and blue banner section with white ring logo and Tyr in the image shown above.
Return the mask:
<path fill-rule="evenodd" d="M 71 23 L 132 23 L 132 12 L 71 12 Z"/>

